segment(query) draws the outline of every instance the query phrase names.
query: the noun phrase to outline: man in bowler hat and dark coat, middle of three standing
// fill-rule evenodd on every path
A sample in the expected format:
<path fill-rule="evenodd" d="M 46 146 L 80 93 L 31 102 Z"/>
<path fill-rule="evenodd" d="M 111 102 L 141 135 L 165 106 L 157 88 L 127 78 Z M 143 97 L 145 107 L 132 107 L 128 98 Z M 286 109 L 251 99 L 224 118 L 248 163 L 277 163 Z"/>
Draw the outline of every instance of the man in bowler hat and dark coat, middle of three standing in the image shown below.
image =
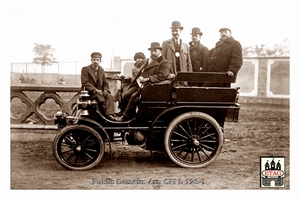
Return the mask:
<path fill-rule="evenodd" d="M 200 28 L 194 27 L 192 29 L 192 41 L 189 43 L 189 51 L 192 61 L 193 72 L 206 72 L 209 61 L 209 50 L 206 46 L 201 44 L 200 39 L 203 33 Z M 191 83 L 193 86 L 202 86 L 203 83 Z"/>

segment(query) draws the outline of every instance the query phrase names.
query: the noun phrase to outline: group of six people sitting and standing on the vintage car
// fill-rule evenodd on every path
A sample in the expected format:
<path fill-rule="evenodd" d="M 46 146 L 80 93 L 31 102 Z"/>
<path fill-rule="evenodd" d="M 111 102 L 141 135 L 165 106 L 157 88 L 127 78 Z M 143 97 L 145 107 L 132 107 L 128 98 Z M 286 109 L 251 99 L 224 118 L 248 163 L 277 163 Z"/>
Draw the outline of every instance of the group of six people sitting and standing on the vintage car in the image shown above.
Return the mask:
<path fill-rule="evenodd" d="M 150 57 L 137 52 L 134 56 L 135 68 L 133 80 L 128 90 L 123 94 L 125 109 L 121 116 L 114 114 L 113 96 L 100 66 L 102 55 L 99 52 L 91 54 L 92 64 L 82 68 L 82 89 L 88 90 L 91 98 L 97 99 L 105 110 L 106 117 L 112 121 L 127 121 L 135 115 L 135 102 L 144 85 L 164 81 L 170 74 L 184 72 L 225 72 L 228 76 L 237 75 L 243 64 L 242 46 L 231 35 L 229 28 L 221 28 L 220 39 L 215 47 L 209 50 L 200 39 L 203 33 L 200 28 L 192 29 L 192 41 L 189 44 L 181 39 L 183 26 L 179 21 L 173 21 L 170 27 L 172 38 L 162 42 L 152 42 L 148 50 Z M 176 83 L 187 84 L 187 83 Z M 196 86 L 228 87 L 223 83 L 196 83 Z"/>

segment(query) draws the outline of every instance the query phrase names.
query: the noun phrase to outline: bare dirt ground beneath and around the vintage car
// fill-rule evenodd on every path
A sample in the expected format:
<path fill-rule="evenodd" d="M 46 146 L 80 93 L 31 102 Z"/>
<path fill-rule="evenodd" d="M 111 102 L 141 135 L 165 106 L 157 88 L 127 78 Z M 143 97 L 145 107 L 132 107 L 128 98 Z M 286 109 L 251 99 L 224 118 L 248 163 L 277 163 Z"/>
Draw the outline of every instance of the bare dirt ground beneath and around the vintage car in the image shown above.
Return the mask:
<path fill-rule="evenodd" d="M 11 142 L 11 190 L 289 190 L 289 114 L 288 105 L 242 104 L 239 122 L 225 124 L 218 159 L 200 169 L 116 142 L 112 159 L 105 154 L 96 168 L 71 171 L 56 162 L 51 141 Z M 261 156 L 285 157 L 284 188 L 260 187 Z"/>

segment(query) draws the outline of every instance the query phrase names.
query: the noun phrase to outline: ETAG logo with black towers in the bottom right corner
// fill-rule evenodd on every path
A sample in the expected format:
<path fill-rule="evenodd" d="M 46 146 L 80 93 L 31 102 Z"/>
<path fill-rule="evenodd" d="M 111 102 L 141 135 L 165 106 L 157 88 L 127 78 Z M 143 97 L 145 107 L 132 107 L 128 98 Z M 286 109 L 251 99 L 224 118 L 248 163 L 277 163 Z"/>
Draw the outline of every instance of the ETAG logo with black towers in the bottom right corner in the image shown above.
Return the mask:
<path fill-rule="evenodd" d="M 284 157 L 260 157 L 260 187 L 284 187 Z"/>

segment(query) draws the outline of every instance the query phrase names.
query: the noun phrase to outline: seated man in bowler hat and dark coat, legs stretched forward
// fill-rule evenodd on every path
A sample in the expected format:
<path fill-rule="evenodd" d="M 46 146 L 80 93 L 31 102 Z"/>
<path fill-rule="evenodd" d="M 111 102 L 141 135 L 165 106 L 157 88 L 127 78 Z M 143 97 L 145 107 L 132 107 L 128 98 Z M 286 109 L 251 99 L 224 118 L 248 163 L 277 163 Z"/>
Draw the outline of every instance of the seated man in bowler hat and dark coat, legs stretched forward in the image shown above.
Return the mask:
<path fill-rule="evenodd" d="M 126 121 L 134 117 L 136 114 L 136 101 L 146 84 L 164 81 L 170 74 L 171 66 L 162 56 L 160 44 L 152 42 L 148 50 L 150 51 L 150 58 L 141 66 L 139 73 L 132 80 L 124 94 L 124 102 L 127 101 L 127 106 L 123 115 L 118 118 L 118 121 Z"/>

